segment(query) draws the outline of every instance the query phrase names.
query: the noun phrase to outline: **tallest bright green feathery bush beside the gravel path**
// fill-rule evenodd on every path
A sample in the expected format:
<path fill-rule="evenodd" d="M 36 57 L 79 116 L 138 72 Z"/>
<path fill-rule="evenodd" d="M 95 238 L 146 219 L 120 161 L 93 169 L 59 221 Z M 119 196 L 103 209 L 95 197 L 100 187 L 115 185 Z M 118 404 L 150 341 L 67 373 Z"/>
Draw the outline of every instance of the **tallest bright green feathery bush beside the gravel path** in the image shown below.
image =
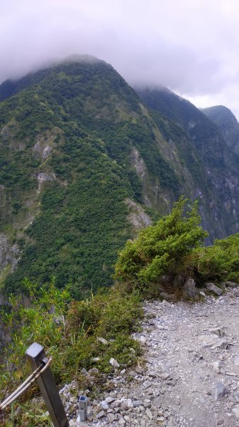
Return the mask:
<path fill-rule="evenodd" d="M 115 277 L 128 288 L 150 288 L 160 283 L 160 276 L 187 271 L 187 258 L 202 243 L 207 233 L 199 226 L 197 203 L 185 212 L 187 199 L 174 204 L 171 214 L 155 226 L 140 232 L 135 241 L 128 241 L 119 254 Z"/>

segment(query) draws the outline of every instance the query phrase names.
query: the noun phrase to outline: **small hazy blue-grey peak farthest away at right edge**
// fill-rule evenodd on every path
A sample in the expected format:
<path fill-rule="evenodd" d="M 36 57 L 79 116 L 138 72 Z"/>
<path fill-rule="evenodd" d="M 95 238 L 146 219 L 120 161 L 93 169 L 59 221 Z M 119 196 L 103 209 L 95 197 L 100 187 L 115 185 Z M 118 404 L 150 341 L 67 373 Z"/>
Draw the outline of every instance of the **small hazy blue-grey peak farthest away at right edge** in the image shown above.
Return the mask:
<path fill-rule="evenodd" d="M 216 123 L 228 146 L 239 154 L 239 123 L 235 115 L 223 105 L 202 108 L 201 111 Z"/>

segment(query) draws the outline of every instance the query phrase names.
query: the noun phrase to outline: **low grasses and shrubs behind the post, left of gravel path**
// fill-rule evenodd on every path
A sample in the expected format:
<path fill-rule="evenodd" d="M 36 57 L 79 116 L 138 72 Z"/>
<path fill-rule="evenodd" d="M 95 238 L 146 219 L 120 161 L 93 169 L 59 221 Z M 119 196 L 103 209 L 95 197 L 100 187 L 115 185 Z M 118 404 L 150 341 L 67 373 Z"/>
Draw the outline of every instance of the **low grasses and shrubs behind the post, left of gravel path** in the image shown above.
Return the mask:
<path fill-rule="evenodd" d="M 82 368 L 97 367 L 101 373 L 110 373 L 111 357 L 122 367 L 135 363 L 140 347 L 130 334 L 143 315 L 137 293 L 123 295 L 111 288 L 87 300 L 70 301 L 69 290 L 58 290 L 54 280 L 48 289 L 37 290 L 27 280 L 24 285 L 28 297 L 11 296 L 11 311 L 3 313 L 12 339 L 2 358 L 5 362 L 0 365 L 0 401 L 29 374 L 25 352 L 33 342 L 42 344 L 46 354 L 52 356 L 58 384 L 82 381 Z M 109 344 L 102 344 L 98 337 Z M 94 357 L 99 361 L 94 362 Z"/>

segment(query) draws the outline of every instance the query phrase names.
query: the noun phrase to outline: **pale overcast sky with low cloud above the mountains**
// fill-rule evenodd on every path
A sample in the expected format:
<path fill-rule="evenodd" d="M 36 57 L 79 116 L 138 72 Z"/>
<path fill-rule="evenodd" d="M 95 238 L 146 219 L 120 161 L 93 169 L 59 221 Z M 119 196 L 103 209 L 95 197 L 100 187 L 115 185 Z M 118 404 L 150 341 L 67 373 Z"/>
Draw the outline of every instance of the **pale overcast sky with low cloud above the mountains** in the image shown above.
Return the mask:
<path fill-rule="evenodd" d="M 0 0 L 0 82 L 74 53 L 239 119 L 238 0 Z"/>

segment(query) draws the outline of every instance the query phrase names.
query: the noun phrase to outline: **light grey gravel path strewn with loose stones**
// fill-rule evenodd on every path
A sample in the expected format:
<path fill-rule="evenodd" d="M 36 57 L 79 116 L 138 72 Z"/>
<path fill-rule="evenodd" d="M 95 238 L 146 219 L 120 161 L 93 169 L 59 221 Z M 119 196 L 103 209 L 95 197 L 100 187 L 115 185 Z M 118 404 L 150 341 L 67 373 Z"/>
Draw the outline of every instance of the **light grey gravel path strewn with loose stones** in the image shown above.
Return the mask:
<path fill-rule="evenodd" d="M 70 426 L 239 426 L 239 290 L 146 302 L 142 326 L 146 365 L 118 369 L 115 389 L 89 402 L 89 421 Z M 62 394 L 69 402 L 67 386 Z"/>

